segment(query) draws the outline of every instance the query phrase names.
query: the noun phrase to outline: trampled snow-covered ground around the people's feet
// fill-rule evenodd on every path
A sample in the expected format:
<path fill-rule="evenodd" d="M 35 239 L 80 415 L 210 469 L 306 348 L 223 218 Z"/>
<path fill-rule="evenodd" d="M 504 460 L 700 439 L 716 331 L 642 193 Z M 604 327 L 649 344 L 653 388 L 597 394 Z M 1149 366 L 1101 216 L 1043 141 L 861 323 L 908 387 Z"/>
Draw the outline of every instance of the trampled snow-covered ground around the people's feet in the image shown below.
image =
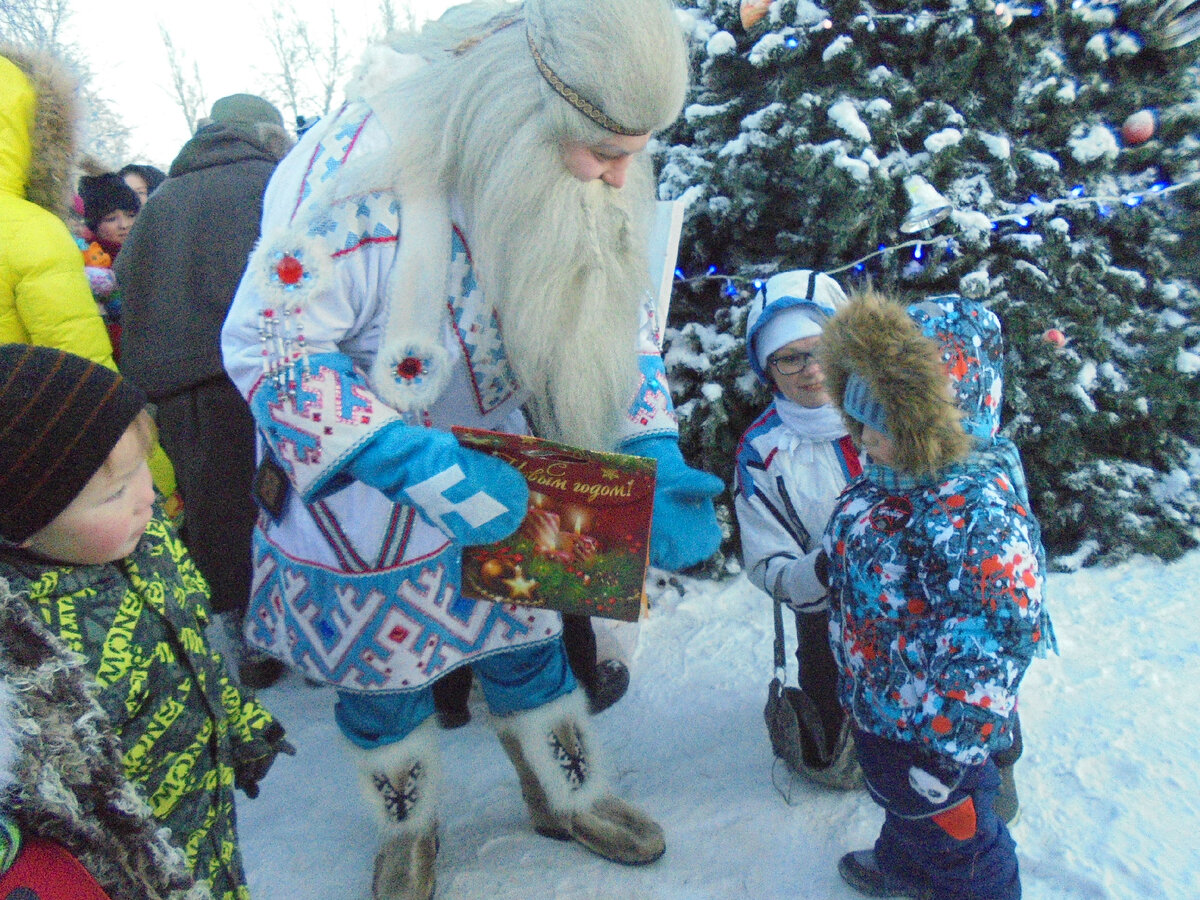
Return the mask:
<path fill-rule="evenodd" d="M 1021 691 L 1013 835 L 1028 900 L 1200 898 L 1198 586 L 1200 552 L 1050 577 L 1062 655 L 1036 660 Z M 652 596 L 632 688 L 594 725 L 619 793 L 666 828 L 666 856 L 629 869 L 534 834 L 474 706 L 468 726 L 442 734 L 439 900 L 858 896 L 836 860 L 870 846 L 882 812 L 865 793 L 793 782 L 773 766 L 766 598 L 744 578 L 679 580 Z M 332 692 L 289 676 L 263 697 L 299 754 L 276 763 L 258 799 L 241 799 L 253 896 L 368 898 L 377 833 Z"/>

